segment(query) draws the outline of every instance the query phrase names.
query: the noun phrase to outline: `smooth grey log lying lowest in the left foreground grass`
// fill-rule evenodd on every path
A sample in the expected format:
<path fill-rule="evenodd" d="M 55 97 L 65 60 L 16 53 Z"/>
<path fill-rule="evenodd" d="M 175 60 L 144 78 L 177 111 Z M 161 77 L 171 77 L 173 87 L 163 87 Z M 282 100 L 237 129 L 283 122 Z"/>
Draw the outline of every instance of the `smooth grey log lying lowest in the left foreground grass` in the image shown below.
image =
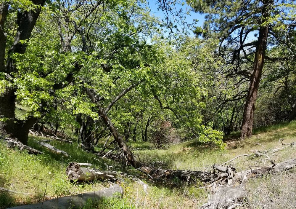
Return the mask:
<path fill-rule="evenodd" d="M 122 197 L 123 189 L 119 185 L 112 186 L 108 189 L 88 192 L 83 194 L 76 194 L 67 197 L 59 197 L 53 200 L 39 202 L 33 205 L 20 205 L 8 209 L 69 209 L 69 208 L 83 208 L 84 204 L 90 200 L 97 201 L 102 197 Z"/>

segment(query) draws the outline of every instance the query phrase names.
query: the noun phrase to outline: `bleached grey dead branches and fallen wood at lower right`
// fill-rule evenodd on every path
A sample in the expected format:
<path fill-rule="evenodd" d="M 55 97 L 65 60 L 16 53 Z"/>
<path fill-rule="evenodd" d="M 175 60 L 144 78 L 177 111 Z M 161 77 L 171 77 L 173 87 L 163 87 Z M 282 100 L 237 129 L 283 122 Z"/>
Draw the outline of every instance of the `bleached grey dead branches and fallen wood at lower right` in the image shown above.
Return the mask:
<path fill-rule="evenodd" d="M 234 159 L 237 159 L 238 157 L 242 156 L 253 156 L 253 157 L 260 157 L 265 156 L 266 159 L 270 160 L 272 165 L 268 166 L 262 166 L 255 169 L 250 170 L 244 170 L 241 172 L 235 172 L 235 168 L 232 166 L 226 166 L 223 167 L 222 165 L 213 165 L 213 175 L 216 178 L 215 182 L 207 182 L 205 183 L 205 187 L 215 187 L 213 190 L 216 190 L 215 194 L 213 194 L 209 198 L 209 202 L 202 205 L 200 209 L 231 209 L 231 208 L 237 208 L 238 206 L 242 204 L 247 204 L 245 200 L 248 200 L 247 198 L 247 192 L 244 189 L 244 183 L 247 181 L 247 179 L 251 177 L 259 177 L 266 174 L 273 174 L 278 172 L 284 172 L 286 170 L 289 170 L 293 167 L 296 167 L 296 159 L 289 159 L 283 162 L 275 163 L 273 159 L 271 159 L 272 156 L 274 156 L 274 152 L 279 151 L 281 149 L 284 149 L 289 146 L 295 146 L 295 143 L 289 143 L 284 144 L 283 139 L 280 139 L 282 146 L 281 148 L 276 148 L 272 150 L 250 150 L 252 152 L 255 152 L 255 154 L 243 154 L 239 155 L 222 165 L 225 165 L 229 162 L 232 162 Z M 254 156 L 255 155 L 255 156 Z M 216 172 L 215 172 L 216 171 Z M 236 186 L 238 185 L 238 186 Z"/>

